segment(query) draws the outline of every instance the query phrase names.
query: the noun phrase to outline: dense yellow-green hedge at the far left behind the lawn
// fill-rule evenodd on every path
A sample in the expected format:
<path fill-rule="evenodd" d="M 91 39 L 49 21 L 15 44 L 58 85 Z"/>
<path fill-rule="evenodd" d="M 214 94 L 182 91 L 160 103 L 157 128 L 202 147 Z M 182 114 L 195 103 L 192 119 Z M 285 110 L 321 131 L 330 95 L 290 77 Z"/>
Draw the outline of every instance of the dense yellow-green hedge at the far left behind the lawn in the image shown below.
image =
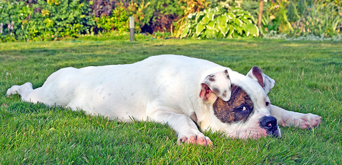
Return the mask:
<path fill-rule="evenodd" d="M 4 25 L 2 41 L 9 38 L 39 41 L 77 37 L 90 33 L 94 25 L 85 0 L 38 0 L 30 5 L 7 0 L 0 6 L 3 7 L 0 10 L 0 22 Z"/>

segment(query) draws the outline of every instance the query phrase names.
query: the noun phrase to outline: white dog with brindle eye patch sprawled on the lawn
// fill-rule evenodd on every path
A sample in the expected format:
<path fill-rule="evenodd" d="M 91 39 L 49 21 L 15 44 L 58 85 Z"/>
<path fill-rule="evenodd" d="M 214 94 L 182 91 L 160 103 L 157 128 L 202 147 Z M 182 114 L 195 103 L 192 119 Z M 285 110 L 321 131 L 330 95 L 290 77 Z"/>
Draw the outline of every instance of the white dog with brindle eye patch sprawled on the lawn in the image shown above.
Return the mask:
<path fill-rule="evenodd" d="M 122 121 L 148 117 L 172 127 L 178 143 L 211 145 L 197 125 L 228 137 L 259 138 L 281 136 L 277 123 L 300 128 L 320 124 L 317 115 L 271 105 L 267 93 L 274 83 L 256 66 L 245 76 L 206 60 L 160 55 L 134 64 L 63 68 L 40 88 L 14 85 L 7 95 Z"/>

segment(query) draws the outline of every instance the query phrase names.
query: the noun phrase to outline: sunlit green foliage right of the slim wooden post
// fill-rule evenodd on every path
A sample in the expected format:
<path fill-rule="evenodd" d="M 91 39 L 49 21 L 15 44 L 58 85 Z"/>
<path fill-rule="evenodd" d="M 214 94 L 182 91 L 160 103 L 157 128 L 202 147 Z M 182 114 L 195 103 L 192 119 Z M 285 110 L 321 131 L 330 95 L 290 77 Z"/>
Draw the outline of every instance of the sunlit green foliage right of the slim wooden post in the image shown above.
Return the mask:
<path fill-rule="evenodd" d="M 287 37 L 310 34 L 318 38 L 334 38 L 337 34 L 342 34 L 342 1 L 297 0 L 269 4 L 270 9 L 266 9 L 269 17 L 265 17 L 268 24 L 263 22 L 267 31 L 277 31 L 280 34 L 287 34 Z"/>

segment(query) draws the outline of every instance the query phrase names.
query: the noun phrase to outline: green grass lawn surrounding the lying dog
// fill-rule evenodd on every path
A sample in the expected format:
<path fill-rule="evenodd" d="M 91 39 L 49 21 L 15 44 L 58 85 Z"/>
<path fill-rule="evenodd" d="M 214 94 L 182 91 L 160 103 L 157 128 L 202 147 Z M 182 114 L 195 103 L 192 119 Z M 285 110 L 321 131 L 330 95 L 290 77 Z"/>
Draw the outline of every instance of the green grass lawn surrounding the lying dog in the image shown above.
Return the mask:
<path fill-rule="evenodd" d="M 322 116 L 311 130 L 236 140 L 205 132 L 213 147 L 177 145 L 153 122 L 122 123 L 6 97 L 15 84 L 40 87 L 60 68 L 134 63 L 152 55 L 203 58 L 246 74 L 253 65 L 276 80 L 271 102 Z M 284 40 L 77 40 L 0 43 L 0 164 L 341 164 L 342 43 Z"/>

